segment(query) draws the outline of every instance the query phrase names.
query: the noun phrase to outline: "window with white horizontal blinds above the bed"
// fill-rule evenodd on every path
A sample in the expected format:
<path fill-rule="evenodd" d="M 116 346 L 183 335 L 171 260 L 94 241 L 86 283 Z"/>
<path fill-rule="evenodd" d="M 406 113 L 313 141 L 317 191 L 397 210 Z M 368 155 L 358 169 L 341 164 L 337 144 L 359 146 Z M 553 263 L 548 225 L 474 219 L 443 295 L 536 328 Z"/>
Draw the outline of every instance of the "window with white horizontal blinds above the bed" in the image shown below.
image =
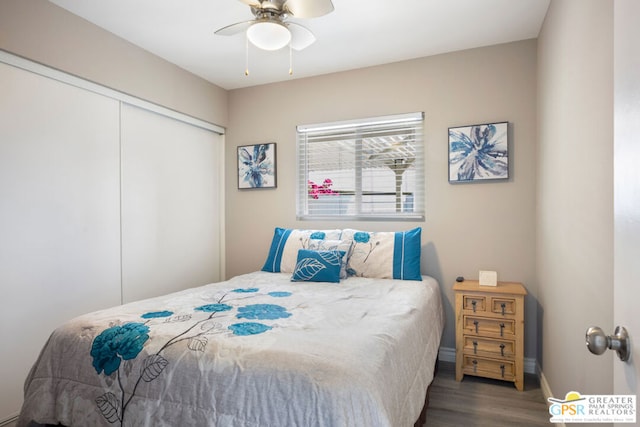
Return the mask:
<path fill-rule="evenodd" d="M 298 219 L 424 219 L 423 113 L 301 125 Z"/>

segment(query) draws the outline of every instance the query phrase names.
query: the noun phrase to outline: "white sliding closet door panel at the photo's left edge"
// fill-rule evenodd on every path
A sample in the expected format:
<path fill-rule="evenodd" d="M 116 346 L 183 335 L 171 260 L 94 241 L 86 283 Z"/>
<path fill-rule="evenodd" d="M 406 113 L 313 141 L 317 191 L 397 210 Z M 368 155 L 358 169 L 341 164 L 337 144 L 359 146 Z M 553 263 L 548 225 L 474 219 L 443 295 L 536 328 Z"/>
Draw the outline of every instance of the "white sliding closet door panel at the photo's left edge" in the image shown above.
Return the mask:
<path fill-rule="evenodd" d="M 0 63 L 0 422 L 56 326 L 120 303 L 118 111 Z"/>

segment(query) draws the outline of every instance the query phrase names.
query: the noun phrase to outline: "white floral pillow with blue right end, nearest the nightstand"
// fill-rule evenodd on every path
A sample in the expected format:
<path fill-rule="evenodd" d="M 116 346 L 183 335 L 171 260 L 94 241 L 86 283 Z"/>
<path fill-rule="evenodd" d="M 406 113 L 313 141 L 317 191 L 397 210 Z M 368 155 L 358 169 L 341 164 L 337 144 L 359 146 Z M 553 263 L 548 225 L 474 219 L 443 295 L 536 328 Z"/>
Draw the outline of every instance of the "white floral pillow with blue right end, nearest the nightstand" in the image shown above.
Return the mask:
<path fill-rule="evenodd" d="M 349 276 L 422 280 L 420 227 L 400 232 L 346 229 L 343 240 L 353 240 L 347 259 Z"/>

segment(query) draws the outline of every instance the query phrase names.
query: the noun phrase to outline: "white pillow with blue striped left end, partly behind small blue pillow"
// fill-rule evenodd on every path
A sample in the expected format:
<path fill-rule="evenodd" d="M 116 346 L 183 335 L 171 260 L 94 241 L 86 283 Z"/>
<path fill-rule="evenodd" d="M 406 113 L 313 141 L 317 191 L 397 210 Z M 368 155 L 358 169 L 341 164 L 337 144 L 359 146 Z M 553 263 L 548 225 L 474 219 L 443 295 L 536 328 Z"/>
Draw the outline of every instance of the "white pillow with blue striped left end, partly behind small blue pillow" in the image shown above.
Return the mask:
<path fill-rule="evenodd" d="M 298 230 L 276 227 L 262 271 L 293 273 L 298 250 L 308 249 L 313 240 L 339 240 L 342 230 Z"/>

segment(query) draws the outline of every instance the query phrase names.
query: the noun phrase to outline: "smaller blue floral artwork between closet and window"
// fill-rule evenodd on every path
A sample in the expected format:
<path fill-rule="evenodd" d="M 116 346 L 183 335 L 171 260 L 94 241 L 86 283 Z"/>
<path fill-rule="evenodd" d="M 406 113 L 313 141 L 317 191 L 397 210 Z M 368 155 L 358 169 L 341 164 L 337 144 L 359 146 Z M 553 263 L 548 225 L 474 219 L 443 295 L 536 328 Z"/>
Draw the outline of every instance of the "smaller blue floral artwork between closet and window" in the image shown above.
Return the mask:
<path fill-rule="evenodd" d="M 238 147 L 238 188 L 276 187 L 276 144 Z"/>

